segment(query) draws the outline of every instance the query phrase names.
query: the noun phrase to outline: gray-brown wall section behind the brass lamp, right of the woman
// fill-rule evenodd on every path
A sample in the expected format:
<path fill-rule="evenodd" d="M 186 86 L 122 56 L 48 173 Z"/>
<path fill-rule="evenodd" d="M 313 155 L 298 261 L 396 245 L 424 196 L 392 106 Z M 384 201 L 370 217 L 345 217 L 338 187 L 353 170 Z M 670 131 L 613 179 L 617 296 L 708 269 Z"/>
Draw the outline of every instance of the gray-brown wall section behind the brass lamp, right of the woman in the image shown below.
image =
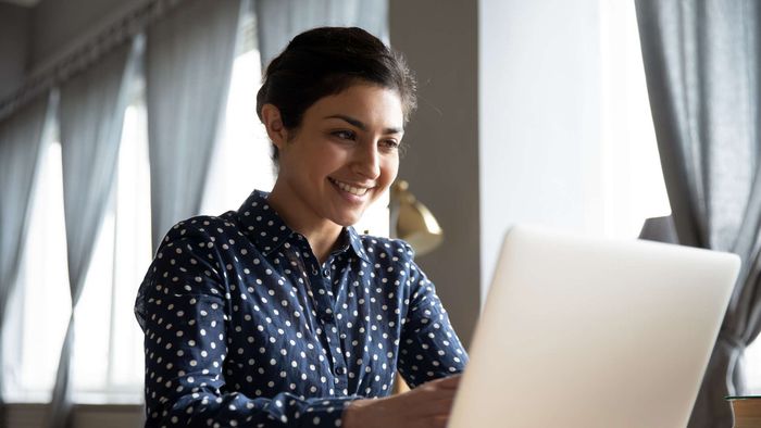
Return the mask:
<path fill-rule="evenodd" d="M 416 260 L 467 344 L 478 316 L 481 277 L 478 2 L 389 3 L 391 46 L 406 55 L 419 83 L 399 176 L 445 232 L 439 249 Z"/>

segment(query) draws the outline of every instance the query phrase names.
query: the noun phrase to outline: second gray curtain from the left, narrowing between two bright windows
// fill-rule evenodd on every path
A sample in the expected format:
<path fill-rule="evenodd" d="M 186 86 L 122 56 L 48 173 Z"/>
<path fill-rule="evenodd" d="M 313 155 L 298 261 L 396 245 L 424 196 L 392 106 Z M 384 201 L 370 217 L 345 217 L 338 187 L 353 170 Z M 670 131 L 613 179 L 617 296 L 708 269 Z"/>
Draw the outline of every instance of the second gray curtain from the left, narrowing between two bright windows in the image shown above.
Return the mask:
<path fill-rule="evenodd" d="M 61 87 L 59 124 L 72 315 L 53 388 L 50 427 L 71 423 L 74 314 L 112 190 L 128 85 L 135 78 L 137 60 L 137 43 L 117 48 Z"/>

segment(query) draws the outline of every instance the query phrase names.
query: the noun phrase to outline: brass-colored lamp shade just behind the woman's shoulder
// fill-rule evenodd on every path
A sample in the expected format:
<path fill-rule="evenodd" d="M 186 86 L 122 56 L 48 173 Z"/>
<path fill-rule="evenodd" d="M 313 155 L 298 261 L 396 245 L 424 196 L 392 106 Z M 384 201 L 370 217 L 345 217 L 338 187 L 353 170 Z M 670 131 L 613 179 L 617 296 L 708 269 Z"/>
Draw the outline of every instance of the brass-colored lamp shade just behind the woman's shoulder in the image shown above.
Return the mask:
<path fill-rule="evenodd" d="M 406 240 L 419 255 L 429 253 L 444 240 L 436 217 L 409 191 L 404 180 L 391 187 L 390 214 L 391 234 Z"/>

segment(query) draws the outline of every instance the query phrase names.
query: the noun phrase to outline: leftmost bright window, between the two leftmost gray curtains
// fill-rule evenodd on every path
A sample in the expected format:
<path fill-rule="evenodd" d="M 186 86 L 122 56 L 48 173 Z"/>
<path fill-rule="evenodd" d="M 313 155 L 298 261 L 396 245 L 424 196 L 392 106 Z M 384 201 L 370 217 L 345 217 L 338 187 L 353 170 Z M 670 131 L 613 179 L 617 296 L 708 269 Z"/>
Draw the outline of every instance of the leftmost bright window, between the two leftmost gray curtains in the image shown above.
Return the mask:
<path fill-rule="evenodd" d="M 18 286 L 9 301 L 2 347 L 3 394 L 9 402 L 50 400 L 71 313 L 58 141 L 45 143 L 39 165 Z"/>

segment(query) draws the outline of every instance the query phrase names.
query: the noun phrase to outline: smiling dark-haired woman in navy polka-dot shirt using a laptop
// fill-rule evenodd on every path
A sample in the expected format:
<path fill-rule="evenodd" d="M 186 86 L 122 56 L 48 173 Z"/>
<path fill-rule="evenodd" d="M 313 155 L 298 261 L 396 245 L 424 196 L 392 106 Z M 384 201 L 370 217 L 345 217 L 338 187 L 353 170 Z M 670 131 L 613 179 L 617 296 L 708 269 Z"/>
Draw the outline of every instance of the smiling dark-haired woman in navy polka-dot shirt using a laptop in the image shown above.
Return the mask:
<path fill-rule="evenodd" d="M 272 192 L 174 226 L 140 286 L 146 426 L 444 427 L 465 351 L 409 244 L 351 227 L 397 175 L 411 73 L 316 28 L 257 101 Z M 388 396 L 397 370 L 413 389 Z"/>

